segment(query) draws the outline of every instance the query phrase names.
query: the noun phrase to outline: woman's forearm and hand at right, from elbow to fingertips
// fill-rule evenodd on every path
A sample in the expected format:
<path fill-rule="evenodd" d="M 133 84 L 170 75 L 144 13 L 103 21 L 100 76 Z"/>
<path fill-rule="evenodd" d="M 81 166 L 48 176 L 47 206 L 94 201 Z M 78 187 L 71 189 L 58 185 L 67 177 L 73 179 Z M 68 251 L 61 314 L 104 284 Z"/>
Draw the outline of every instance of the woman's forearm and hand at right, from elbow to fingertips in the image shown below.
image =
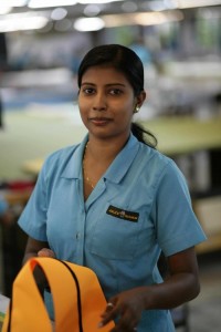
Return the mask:
<path fill-rule="evenodd" d="M 171 274 L 159 284 L 134 288 L 108 299 L 109 305 L 102 313 L 101 326 L 119 318 L 116 331 L 123 326 L 137 326 L 145 310 L 167 310 L 190 301 L 199 293 L 198 276 L 193 272 Z"/>

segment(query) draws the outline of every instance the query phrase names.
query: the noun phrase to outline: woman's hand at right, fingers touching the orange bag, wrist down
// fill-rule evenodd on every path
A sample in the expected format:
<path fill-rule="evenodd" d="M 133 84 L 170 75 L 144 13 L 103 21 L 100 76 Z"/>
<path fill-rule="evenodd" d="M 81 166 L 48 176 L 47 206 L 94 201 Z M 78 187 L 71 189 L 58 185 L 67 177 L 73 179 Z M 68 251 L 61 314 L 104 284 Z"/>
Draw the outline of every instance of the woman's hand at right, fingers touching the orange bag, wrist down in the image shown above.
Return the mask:
<path fill-rule="evenodd" d="M 102 328 L 109 321 L 118 319 L 112 332 L 134 332 L 145 310 L 144 288 L 124 291 L 109 299 L 106 310 L 102 313 Z"/>

